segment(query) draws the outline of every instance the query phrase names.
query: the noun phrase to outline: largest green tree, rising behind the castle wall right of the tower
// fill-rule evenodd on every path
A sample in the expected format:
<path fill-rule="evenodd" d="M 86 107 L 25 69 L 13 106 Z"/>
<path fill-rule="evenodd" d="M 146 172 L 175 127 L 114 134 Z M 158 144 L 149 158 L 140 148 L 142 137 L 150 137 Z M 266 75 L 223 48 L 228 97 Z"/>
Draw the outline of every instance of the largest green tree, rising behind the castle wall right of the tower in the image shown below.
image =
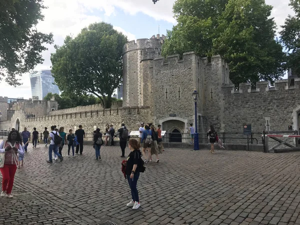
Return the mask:
<path fill-rule="evenodd" d="M 162 54 L 220 54 L 235 85 L 273 82 L 283 75 L 284 53 L 275 40 L 271 9 L 264 0 L 176 0 L 178 24 L 168 31 Z"/>

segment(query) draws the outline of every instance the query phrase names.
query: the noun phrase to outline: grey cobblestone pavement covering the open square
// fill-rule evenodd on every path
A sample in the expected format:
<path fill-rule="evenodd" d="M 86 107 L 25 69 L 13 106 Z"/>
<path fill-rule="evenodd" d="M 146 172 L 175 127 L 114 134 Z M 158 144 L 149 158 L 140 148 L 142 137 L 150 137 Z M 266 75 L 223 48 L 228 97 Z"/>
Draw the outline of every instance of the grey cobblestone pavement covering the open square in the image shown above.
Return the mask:
<path fill-rule="evenodd" d="M 141 207 L 132 210 L 118 146 L 103 146 L 100 161 L 85 145 L 83 155 L 47 164 L 47 148 L 30 144 L 14 198 L 0 198 L 0 224 L 300 224 L 299 154 L 166 149 L 159 156 L 141 173 Z"/>

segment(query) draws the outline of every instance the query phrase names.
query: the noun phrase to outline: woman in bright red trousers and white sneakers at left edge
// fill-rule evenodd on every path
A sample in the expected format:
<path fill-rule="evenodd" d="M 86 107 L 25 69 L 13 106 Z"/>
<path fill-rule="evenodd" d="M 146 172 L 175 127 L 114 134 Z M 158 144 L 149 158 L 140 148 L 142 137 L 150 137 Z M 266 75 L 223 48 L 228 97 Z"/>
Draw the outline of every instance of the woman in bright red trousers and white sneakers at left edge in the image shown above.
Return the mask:
<path fill-rule="evenodd" d="M 22 147 L 22 139 L 17 130 L 8 133 L 7 140 L 0 143 L 1 159 L 4 160 L 3 167 L 0 167 L 2 174 L 2 192 L 1 197 L 13 197 L 11 194 L 14 174 L 18 161 L 17 154 L 24 154 Z"/>

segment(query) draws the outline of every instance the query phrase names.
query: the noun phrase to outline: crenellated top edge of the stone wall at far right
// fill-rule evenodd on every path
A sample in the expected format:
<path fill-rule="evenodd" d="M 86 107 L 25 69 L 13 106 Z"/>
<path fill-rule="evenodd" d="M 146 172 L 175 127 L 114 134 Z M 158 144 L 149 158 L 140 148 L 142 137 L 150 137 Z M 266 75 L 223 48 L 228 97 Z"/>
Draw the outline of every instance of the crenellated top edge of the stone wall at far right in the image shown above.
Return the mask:
<path fill-rule="evenodd" d="M 288 79 L 280 79 L 274 81 L 274 86 L 270 86 L 268 81 L 256 82 L 256 87 L 251 87 L 251 83 L 240 83 L 238 90 L 235 90 L 234 85 L 223 85 L 224 91 L 230 89 L 231 93 L 250 93 L 250 92 L 262 92 L 262 91 L 277 91 L 277 90 L 289 90 L 300 89 L 300 78 L 294 79 L 294 85 L 288 85 Z"/>

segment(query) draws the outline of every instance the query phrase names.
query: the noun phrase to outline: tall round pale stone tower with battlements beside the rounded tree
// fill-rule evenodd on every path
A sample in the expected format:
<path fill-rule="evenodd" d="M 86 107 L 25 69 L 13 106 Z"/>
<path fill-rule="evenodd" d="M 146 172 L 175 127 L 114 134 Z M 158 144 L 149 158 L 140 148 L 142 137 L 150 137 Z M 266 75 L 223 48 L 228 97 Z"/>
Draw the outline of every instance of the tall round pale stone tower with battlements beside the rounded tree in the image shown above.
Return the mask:
<path fill-rule="evenodd" d="M 151 105 L 149 63 L 160 56 L 164 35 L 129 41 L 123 47 L 123 106 Z"/>

